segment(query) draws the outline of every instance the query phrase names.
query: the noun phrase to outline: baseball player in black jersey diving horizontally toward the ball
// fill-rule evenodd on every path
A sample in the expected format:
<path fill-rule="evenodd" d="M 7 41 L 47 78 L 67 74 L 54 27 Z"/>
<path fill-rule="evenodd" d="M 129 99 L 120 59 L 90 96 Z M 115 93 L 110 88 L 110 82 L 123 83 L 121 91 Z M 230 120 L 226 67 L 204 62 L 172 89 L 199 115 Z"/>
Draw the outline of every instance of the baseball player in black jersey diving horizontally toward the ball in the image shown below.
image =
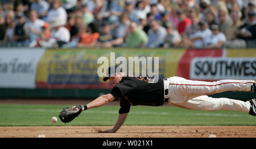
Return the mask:
<path fill-rule="evenodd" d="M 117 65 L 112 66 L 117 70 Z M 120 99 L 119 115 L 113 129 L 102 133 L 115 133 L 122 126 L 130 111 L 130 106 L 147 105 L 161 106 L 169 103 L 192 110 L 231 110 L 242 111 L 250 115 L 256 115 L 255 99 L 250 101 L 233 100 L 230 98 L 212 98 L 207 95 L 231 90 L 256 92 L 254 80 L 220 80 L 214 82 L 192 81 L 181 77 L 159 79 L 148 77 L 129 77 L 122 72 L 107 73 L 110 77 L 104 77 L 104 81 L 110 80 L 113 89 L 84 105 L 84 110 L 108 104 Z"/>

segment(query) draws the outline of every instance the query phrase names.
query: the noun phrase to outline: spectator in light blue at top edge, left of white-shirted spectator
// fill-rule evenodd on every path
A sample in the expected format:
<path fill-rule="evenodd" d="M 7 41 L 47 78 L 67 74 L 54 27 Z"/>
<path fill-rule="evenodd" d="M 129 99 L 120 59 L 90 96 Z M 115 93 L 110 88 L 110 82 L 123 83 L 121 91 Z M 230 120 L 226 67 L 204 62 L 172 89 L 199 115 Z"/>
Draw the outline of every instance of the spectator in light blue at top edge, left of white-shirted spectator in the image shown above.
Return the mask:
<path fill-rule="evenodd" d="M 45 20 L 49 9 L 49 3 L 44 0 L 35 0 L 31 3 L 30 10 L 35 10 L 40 19 Z"/>

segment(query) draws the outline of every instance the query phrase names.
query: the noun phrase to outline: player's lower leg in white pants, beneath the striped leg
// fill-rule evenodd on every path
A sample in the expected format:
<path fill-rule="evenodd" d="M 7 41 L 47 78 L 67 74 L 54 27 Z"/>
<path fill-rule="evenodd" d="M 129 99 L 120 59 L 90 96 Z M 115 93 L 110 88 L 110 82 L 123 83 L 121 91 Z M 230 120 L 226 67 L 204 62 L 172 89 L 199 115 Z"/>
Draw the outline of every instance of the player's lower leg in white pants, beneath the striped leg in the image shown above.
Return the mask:
<path fill-rule="evenodd" d="M 171 102 L 170 102 L 171 104 Z M 177 103 L 176 106 L 184 109 L 191 110 L 204 110 L 204 111 L 217 111 L 217 110 L 229 110 L 229 111 L 242 111 L 249 113 L 250 101 L 233 100 L 230 98 L 212 98 L 208 96 L 199 96 L 192 98 L 191 100 L 183 103 Z"/>

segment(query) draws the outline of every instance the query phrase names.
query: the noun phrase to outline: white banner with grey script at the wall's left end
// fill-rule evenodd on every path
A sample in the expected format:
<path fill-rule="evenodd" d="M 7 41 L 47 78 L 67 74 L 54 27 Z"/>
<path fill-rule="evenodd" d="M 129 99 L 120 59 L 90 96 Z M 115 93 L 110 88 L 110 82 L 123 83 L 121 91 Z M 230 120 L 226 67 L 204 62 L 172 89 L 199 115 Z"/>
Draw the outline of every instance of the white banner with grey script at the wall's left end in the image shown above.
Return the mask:
<path fill-rule="evenodd" d="M 36 87 L 36 71 L 44 49 L 0 49 L 0 88 Z"/>

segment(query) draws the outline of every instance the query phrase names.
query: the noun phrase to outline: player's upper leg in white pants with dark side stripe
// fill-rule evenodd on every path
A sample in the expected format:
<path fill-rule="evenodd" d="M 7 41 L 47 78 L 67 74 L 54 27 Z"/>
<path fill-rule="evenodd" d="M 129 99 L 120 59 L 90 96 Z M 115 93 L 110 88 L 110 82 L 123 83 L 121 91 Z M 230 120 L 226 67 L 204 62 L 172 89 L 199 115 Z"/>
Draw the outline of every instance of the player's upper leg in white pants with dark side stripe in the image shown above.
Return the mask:
<path fill-rule="evenodd" d="M 253 80 L 193 81 L 181 77 L 168 78 L 172 103 L 182 103 L 192 98 L 231 90 L 250 91 Z"/>

